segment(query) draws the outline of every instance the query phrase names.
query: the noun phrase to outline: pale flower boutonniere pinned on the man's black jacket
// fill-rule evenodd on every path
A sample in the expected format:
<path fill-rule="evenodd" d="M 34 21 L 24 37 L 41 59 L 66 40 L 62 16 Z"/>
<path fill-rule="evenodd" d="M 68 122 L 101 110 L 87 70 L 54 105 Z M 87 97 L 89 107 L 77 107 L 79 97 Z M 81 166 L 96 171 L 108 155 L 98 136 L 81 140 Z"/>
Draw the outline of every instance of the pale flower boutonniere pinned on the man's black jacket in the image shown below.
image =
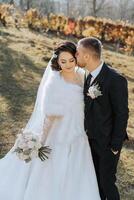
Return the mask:
<path fill-rule="evenodd" d="M 102 96 L 99 84 L 95 83 L 89 87 L 87 96 L 90 96 L 92 99 L 96 99 L 99 96 Z"/>

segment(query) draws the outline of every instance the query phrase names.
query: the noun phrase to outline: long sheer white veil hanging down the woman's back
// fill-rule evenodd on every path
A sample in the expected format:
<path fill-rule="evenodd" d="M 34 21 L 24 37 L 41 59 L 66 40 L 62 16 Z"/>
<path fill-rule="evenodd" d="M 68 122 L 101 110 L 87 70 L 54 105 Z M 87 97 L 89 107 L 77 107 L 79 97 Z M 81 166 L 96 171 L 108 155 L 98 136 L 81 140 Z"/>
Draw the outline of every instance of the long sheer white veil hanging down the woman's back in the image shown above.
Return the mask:
<path fill-rule="evenodd" d="M 51 68 L 50 60 L 37 91 L 37 97 L 32 115 L 26 124 L 26 127 L 23 128 L 24 134 L 32 133 L 34 135 L 41 135 L 43 133 L 43 125 L 45 120 L 45 83 L 49 78 L 51 78 L 52 72 L 54 71 Z"/>

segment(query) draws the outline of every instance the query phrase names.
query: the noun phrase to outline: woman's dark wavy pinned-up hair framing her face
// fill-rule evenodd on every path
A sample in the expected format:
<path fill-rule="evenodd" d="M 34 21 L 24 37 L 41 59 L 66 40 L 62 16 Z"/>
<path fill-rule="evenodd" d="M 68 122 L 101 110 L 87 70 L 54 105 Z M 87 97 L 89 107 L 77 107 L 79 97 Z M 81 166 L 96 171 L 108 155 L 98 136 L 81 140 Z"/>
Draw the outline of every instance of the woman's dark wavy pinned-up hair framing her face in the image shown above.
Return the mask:
<path fill-rule="evenodd" d="M 62 52 L 68 52 L 70 53 L 75 59 L 75 54 L 76 54 L 76 45 L 73 42 L 62 42 L 60 44 L 58 44 L 58 46 L 56 48 L 54 48 L 54 53 L 51 59 L 51 67 L 52 70 L 55 71 L 60 71 L 61 67 L 58 64 L 58 59 L 59 59 L 59 55 Z"/>

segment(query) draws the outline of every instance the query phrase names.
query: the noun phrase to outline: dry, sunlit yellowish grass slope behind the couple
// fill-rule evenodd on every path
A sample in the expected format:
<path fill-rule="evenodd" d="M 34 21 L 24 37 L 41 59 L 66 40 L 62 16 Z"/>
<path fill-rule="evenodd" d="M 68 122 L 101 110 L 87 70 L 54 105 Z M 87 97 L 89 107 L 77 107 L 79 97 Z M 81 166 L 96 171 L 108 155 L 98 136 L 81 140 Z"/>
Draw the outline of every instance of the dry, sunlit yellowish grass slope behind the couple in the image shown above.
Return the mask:
<path fill-rule="evenodd" d="M 12 146 L 18 130 L 32 112 L 36 91 L 51 57 L 53 46 L 61 39 L 43 36 L 27 29 L 0 29 L 0 144 L 1 153 Z M 129 83 L 131 140 L 124 145 L 118 169 L 122 200 L 134 199 L 134 57 L 104 50 L 104 58 L 123 73 Z M 123 97 L 121 97 L 123 98 Z M 4 144 L 4 146 L 3 146 Z"/>

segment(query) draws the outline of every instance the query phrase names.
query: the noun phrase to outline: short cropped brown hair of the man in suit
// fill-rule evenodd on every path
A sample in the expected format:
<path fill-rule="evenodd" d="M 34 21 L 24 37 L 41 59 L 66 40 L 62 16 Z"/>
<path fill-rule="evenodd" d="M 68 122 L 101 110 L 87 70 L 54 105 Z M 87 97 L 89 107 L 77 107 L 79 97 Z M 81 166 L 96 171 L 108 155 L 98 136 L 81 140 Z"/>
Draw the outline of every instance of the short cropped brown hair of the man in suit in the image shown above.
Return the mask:
<path fill-rule="evenodd" d="M 101 58 L 102 52 L 102 43 L 95 37 L 87 37 L 83 38 L 79 41 L 79 44 L 82 45 L 84 48 L 90 50 L 93 53 L 95 58 Z"/>

